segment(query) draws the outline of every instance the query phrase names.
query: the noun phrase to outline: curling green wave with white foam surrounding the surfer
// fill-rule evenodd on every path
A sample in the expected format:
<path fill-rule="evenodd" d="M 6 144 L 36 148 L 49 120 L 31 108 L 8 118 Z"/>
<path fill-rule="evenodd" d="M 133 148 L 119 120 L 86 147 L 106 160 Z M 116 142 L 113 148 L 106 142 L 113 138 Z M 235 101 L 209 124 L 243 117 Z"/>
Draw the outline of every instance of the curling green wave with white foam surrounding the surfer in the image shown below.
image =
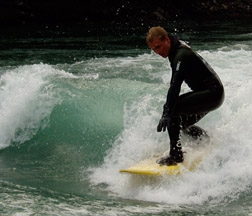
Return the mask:
<path fill-rule="evenodd" d="M 212 150 L 193 173 L 143 185 L 118 173 L 168 150 L 167 134 L 156 133 L 156 124 L 171 71 L 168 61 L 153 53 L 1 68 L 0 148 L 9 149 L 10 158 L 15 146 L 22 152 L 32 149 L 35 155 L 43 152 L 45 167 L 58 167 L 53 170 L 55 178 L 89 178 L 91 184 L 105 184 L 123 198 L 230 203 L 250 188 L 252 180 L 248 172 L 251 51 L 223 47 L 199 52 L 220 75 L 226 98 L 199 123 L 211 136 L 209 146 L 203 143 L 202 148 Z M 182 86 L 182 91 L 187 90 Z M 191 142 L 183 146 L 197 149 Z M 48 176 L 51 172 L 43 170 Z"/>

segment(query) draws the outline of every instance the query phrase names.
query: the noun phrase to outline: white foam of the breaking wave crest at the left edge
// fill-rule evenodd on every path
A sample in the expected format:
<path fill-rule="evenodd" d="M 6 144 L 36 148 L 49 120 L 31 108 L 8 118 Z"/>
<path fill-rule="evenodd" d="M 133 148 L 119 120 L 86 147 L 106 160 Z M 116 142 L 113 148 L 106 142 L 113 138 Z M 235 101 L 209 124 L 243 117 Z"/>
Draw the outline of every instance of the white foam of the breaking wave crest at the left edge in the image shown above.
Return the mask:
<path fill-rule="evenodd" d="M 9 69 L 1 75 L 0 148 L 13 141 L 23 143 L 46 125 L 46 118 L 59 102 L 49 77 L 60 73 L 38 64 Z"/>

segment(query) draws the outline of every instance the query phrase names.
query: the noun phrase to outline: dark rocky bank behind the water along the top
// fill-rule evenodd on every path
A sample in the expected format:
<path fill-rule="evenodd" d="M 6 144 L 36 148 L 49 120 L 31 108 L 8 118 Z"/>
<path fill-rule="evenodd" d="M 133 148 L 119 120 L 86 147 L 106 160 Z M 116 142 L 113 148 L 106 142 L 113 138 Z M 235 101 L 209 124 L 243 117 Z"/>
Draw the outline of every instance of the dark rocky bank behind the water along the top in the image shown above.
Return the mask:
<path fill-rule="evenodd" d="M 251 0 L 1 0 L 0 23 L 251 19 Z"/>

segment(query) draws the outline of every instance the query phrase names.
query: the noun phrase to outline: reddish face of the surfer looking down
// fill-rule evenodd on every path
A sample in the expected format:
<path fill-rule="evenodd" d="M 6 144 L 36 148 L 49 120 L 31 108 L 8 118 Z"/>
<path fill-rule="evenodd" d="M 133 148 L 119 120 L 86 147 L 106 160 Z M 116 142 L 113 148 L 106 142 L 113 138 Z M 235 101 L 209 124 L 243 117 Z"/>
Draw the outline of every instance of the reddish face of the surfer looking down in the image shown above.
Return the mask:
<path fill-rule="evenodd" d="M 148 46 L 158 55 L 166 58 L 169 55 L 171 42 L 170 38 L 167 36 L 165 40 L 160 40 L 159 38 L 155 38 L 152 42 L 148 43 Z"/>

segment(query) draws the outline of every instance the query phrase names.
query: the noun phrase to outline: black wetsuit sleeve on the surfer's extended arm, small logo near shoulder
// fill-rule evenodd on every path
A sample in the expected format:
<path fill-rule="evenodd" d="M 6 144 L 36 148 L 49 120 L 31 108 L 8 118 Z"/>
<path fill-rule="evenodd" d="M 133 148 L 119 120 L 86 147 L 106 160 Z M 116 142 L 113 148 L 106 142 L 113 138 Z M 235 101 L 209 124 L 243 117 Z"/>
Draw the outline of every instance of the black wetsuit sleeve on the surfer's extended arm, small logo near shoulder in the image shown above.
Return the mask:
<path fill-rule="evenodd" d="M 172 77 L 163 111 L 163 115 L 165 116 L 173 115 L 174 108 L 180 94 L 181 85 L 184 81 L 184 64 L 182 61 L 176 61 L 174 65 L 171 65 L 171 68 Z"/>

